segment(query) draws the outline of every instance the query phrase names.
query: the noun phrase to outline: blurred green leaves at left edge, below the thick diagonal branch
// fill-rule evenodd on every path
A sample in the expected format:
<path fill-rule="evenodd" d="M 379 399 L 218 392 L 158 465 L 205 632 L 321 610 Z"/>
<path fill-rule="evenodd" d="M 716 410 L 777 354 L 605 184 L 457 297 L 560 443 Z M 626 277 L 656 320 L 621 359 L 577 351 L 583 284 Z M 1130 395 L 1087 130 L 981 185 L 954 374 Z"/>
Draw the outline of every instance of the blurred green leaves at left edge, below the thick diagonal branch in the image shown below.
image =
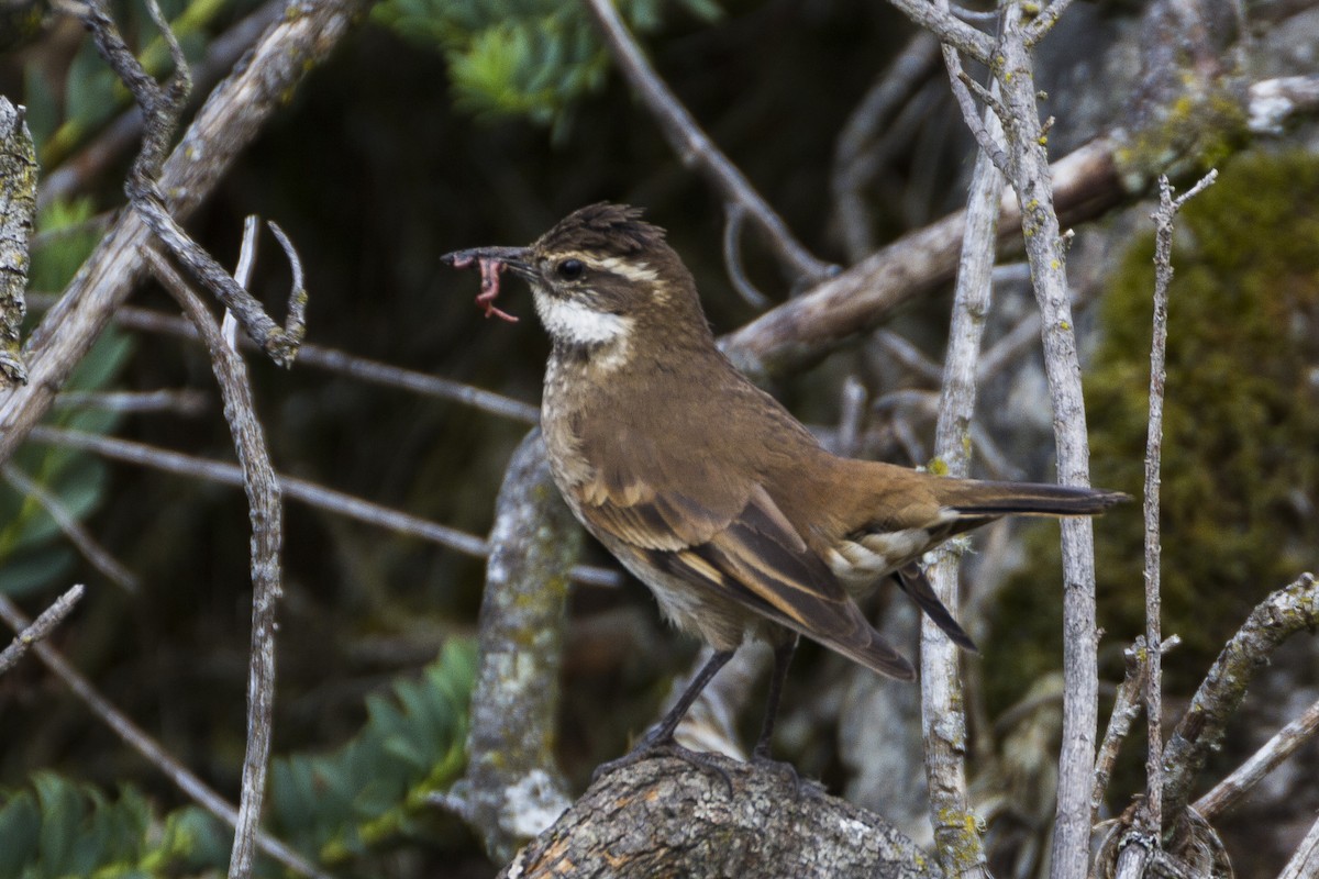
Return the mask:
<path fill-rule="evenodd" d="M 41 212 L 37 229 L 49 244 L 32 254 L 32 286 L 37 290 L 63 287 L 82 265 L 98 239 L 87 228 L 91 204 L 54 204 Z M 65 233 L 66 232 L 66 233 Z M 129 354 L 132 340 L 108 328 L 74 369 L 67 390 L 109 387 Z M 57 410 L 50 420 L 71 430 L 106 434 L 119 423 L 119 415 L 106 410 Z M 13 465 L 53 496 L 75 519 L 84 519 L 100 505 L 108 469 L 95 456 L 55 447 L 24 445 Z M 62 580 L 74 561 L 59 526 L 46 507 L 13 486 L 0 482 L 0 592 L 21 596 L 51 586 Z"/>

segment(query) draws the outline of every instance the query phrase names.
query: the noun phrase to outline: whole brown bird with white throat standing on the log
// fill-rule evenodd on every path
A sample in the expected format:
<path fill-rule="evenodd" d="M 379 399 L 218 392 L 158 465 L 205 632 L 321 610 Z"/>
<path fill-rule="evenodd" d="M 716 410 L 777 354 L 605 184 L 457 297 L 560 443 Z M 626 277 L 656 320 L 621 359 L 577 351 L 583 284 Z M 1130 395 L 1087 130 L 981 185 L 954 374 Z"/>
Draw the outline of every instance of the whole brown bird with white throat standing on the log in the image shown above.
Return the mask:
<path fill-rule="evenodd" d="M 576 518 L 645 582 L 663 614 L 715 654 L 663 720 L 607 767 L 679 749 L 674 729 L 747 638 L 774 646 L 753 750 L 768 759 L 798 635 L 880 673 L 911 664 L 856 605 L 884 577 L 960 647 L 971 639 L 934 594 L 921 556 L 1002 515 L 1093 515 L 1126 496 L 984 482 L 831 455 L 715 345 L 696 286 L 663 229 L 636 208 L 584 207 L 528 248 L 459 250 L 481 269 L 487 316 L 508 269 L 532 286 L 553 340 L 541 427 Z M 509 318 L 510 319 L 510 318 Z"/>

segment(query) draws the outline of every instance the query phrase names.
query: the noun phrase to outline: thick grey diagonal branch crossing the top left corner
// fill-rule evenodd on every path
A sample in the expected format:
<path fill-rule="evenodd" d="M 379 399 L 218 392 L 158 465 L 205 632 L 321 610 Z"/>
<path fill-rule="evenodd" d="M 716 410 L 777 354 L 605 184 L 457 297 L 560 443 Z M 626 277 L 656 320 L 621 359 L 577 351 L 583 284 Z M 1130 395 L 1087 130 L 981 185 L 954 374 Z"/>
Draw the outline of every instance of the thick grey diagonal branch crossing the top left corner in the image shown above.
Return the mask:
<path fill-rule="evenodd" d="M 177 220 L 191 213 L 215 187 L 265 120 L 288 105 L 298 80 L 330 53 L 365 5 L 364 0 L 298 5 L 265 33 L 241 69 L 216 87 L 160 178 L 160 190 Z M 0 460 L 8 460 L 28 436 L 128 297 L 148 239 L 146 225 L 136 212 L 121 215 L 33 332 L 24 351 L 29 383 L 0 390 Z"/>

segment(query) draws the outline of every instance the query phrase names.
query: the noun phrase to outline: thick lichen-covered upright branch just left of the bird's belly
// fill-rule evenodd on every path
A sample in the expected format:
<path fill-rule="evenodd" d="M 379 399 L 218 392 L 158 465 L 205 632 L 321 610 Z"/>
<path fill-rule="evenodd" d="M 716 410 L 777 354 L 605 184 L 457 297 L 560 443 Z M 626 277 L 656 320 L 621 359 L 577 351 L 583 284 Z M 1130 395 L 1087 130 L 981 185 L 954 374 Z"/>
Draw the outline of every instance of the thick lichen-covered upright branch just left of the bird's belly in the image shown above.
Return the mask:
<path fill-rule="evenodd" d="M 467 774 L 435 801 L 505 862 L 571 801 L 554 743 L 567 573 L 582 528 L 554 490 L 539 428 L 513 452 L 496 507 Z"/>

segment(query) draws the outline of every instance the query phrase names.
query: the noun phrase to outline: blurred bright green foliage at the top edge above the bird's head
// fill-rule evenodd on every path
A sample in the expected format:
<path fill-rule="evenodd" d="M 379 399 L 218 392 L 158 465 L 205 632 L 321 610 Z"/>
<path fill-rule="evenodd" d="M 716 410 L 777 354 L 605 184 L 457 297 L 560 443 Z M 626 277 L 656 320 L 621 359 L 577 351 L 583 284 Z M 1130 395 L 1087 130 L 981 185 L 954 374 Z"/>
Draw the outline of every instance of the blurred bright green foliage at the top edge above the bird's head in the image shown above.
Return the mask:
<path fill-rule="evenodd" d="M 678 0 L 712 21 L 712 0 Z M 620 12 L 634 32 L 661 22 L 662 0 L 627 0 Z M 441 49 L 456 101 L 479 116 L 526 116 L 567 124 L 572 101 L 600 88 L 609 59 L 582 3 L 558 0 L 385 0 L 376 21 Z"/>

